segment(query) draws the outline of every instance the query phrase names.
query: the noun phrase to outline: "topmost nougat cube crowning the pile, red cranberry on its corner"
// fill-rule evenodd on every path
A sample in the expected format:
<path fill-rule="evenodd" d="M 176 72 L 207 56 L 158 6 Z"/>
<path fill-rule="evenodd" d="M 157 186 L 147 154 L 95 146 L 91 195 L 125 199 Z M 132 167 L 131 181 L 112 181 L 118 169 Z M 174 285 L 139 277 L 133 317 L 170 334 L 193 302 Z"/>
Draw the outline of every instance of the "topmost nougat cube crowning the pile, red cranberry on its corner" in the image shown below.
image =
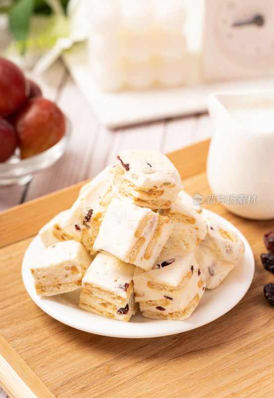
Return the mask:
<path fill-rule="evenodd" d="M 168 208 L 182 189 L 173 163 L 158 151 L 121 151 L 115 159 L 113 187 L 121 199 L 151 209 Z"/>

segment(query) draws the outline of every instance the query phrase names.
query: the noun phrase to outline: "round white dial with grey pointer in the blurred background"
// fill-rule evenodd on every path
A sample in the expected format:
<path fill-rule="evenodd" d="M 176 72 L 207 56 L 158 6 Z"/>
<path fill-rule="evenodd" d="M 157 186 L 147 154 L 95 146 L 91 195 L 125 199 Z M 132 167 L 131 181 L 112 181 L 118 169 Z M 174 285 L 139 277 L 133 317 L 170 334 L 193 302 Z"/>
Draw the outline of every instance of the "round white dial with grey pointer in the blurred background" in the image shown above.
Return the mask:
<path fill-rule="evenodd" d="M 223 0 L 216 17 L 220 51 L 249 66 L 274 64 L 274 0 Z"/>

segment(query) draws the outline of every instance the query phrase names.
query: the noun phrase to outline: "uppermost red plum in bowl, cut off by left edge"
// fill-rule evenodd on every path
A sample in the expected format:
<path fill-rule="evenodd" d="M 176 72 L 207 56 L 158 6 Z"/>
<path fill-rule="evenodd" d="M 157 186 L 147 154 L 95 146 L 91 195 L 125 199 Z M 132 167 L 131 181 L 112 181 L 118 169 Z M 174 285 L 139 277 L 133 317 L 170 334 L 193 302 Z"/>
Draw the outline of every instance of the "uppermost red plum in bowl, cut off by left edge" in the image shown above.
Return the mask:
<path fill-rule="evenodd" d="M 12 62 L 0 57 L 0 115 L 8 116 L 26 101 L 29 83 Z"/>

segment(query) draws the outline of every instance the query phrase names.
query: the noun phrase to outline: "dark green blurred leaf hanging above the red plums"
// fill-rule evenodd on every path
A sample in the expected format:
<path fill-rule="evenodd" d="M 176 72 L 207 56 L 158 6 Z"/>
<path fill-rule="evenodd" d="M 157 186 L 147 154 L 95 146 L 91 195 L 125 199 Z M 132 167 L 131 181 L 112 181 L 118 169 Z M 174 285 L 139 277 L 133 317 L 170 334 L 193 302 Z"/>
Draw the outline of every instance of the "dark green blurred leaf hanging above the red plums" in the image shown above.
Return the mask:
<path fill-rule="evenodd" d="M 16 41 L 28 37 L 30 18 L 34 8 L 34 0 L 19 0 L 14 3 L 8 13 L 9 28 Z M 24 52 L 24 49 L 22 49 Z"/>

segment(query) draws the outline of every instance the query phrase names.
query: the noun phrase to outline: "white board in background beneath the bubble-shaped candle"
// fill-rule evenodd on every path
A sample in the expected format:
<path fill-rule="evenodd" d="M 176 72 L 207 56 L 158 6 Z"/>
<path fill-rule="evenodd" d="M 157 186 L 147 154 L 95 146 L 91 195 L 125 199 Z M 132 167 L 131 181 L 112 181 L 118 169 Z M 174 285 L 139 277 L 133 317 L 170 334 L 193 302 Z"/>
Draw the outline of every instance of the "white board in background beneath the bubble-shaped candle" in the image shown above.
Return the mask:
<path fill-rule="evenodd" d="M 98 120 L 112 128 L 206 112 L 207 97 L 215 91 L 268 89 L 274 86 L 274 78 L 203 84 L 199 80 L 200 59 L 189 56 L 188 69 L 192 71 L 192 76 L 188 86 L 171 90 L 106 93 L 98 88 L 92 78 L 85 43 L 74 44 L 63 54 L 63 59 Z"/>

